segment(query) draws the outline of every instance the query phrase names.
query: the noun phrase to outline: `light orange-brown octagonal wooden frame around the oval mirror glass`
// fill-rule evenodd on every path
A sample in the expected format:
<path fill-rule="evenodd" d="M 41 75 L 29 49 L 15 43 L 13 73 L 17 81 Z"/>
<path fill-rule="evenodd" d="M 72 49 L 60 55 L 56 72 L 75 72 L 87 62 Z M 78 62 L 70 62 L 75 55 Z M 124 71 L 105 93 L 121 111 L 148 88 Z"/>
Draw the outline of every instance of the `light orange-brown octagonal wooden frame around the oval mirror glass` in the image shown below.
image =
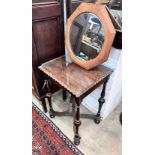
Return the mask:
<path fill-rule="evenodd" d="M 70 32 L 75 19 L 81 14 L 86 14 L 86 13 L 94 14 L 100 20 L 102 27 L 104 29 L 104 34 L 103 34 L 104 41 L 101 46 L 101 50 L 99 54 L 95 58 L 87 61 L 83 61 L 77 58 L 77 56 L 75 55 L 75 51 L 73 51 L 71 41 L 70 41 L 71 40 Z M 116 31 L 112 24 L 111 18 L 108 14 L 106 5 L 99 5 L 99 4 L 93 4 L 93 3 L 81 3 L 81 5 L 73 12 L 73 14 L 67 20 L 65 44 L 67 47 L 68 54 L 72 59 L 72 61 L 77 65 L 87 70 L 92 69 L 107 60 L 111 46 L 115 38 L 115 34 L 116 34 Z"/>

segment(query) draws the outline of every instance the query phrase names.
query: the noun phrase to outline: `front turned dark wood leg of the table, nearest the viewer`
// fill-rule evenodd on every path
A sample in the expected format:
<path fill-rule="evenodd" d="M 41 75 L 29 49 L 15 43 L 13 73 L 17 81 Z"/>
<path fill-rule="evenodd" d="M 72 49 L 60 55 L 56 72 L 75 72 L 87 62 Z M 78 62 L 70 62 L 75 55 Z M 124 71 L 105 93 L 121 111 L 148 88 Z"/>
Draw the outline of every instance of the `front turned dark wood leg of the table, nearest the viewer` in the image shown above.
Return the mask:
<path fill-rule="evenodd" d="M 80 99 L 75 97 L 75 117 L 74 117 L 74 144 L 80 144 L 80 135 L 79 135 L 79 126 L 81 125 L 80 121 Z"/>

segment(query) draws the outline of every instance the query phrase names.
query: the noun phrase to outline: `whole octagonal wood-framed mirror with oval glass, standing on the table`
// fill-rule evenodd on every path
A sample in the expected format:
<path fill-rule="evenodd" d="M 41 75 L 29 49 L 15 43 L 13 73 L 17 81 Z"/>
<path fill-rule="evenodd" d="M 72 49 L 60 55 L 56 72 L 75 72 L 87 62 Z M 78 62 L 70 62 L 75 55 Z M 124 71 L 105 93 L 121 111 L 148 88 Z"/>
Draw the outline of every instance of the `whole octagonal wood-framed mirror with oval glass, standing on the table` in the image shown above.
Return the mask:
<path fill-rule="evenodd" d="M 82 3 L 67 21 L 69 56 L 89 70 L 107 60 L 115 33 L 105 5 Z"/>

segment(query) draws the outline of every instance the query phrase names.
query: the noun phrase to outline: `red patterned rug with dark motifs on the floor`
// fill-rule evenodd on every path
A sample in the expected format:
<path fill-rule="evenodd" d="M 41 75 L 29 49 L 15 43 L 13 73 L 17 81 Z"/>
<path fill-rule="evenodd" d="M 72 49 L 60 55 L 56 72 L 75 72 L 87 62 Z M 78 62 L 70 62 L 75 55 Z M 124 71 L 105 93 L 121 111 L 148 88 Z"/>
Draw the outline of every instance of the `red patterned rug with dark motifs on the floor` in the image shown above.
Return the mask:
<path fill-rule="evenodd" d="M 83 155 L 62 131 L 32 104 L 32 155 Z"/>

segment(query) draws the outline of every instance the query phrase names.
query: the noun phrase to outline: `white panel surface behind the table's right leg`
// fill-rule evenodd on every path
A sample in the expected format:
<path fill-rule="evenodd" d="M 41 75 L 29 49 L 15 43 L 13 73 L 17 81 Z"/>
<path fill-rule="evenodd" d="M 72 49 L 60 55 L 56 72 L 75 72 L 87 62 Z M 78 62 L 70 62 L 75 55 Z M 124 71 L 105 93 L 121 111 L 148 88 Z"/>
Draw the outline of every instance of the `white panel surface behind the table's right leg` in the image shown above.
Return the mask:
<path fill-rule="evenodd" d="M 122 100 L 122 56 L 121 50 L 112 48 L 109 58 L 103 65 L 113 69 L 113 73 L 106 86 L 105 103 L 103 105 L 101 116 L 106 118 Z M 102 86 L 97 88 L 87 96 L 82 104 L 93 113 L 97 113 L 98 99 Z"/>

